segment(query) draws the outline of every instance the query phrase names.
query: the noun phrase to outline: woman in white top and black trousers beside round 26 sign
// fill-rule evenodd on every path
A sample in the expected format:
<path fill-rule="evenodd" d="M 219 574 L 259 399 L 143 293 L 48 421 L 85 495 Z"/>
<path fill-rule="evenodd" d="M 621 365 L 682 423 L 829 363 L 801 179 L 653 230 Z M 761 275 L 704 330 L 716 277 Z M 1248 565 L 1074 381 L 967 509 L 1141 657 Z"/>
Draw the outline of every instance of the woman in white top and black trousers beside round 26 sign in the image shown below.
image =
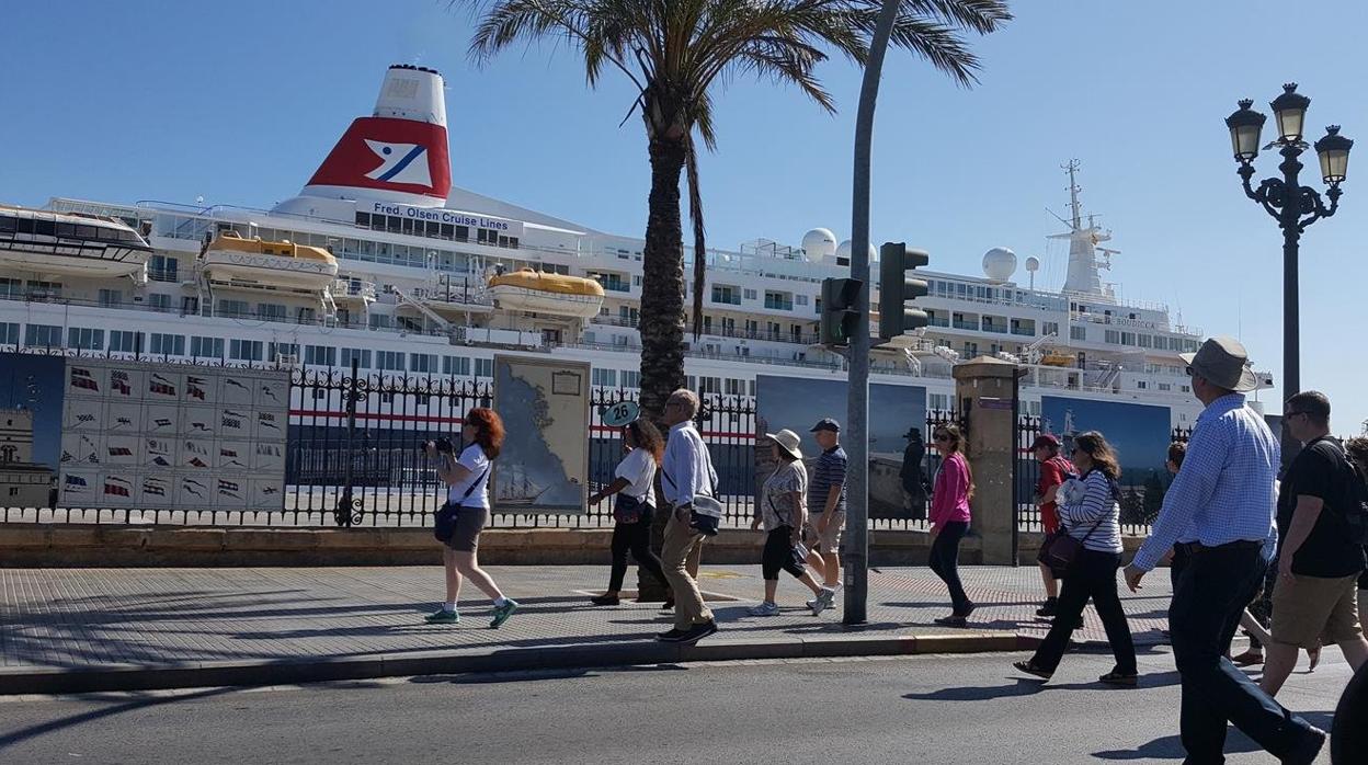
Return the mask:
<path fill-rule="evenodd" d="M 665 572 L 661 558 L 651 552 L 651 515 L 655 512 L 655 468 L 665 452 L 665 439 L 647 420 L 632 420 L 622 427 L 622 449 L 627 456 L 613 472 L 613 483 L 590 497 L 590 505 L 617 495 L 613 504 L 613 572 L 607 593 L 590 598 L 596 606 L 616 606 L 621 602 L 622 578 L 627 575 L 627 552 L 632 550 L 636 565 L 650 571 L 661 584 Z"/>

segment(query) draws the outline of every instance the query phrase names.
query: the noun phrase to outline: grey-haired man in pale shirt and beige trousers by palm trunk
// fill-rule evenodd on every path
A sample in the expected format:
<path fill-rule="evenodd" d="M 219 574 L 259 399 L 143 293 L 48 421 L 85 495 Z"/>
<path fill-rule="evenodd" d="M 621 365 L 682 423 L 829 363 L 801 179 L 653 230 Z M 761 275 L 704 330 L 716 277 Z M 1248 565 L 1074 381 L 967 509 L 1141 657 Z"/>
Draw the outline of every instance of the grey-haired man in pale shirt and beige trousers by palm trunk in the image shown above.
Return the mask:
<path fill-rule="evenodd" d="M 717 472 L 703 443 L 703 437 L 694 427 L 698 416 L 698 396 L 691 390 L 676 390 L 665 402 L 665 424 L 669 426 L 669 439 L 665 442 L 665 460 L 661 464 L 661 490 L 670 508 L 670 520 L 665 524 L 665 543 L 661 547 L 661 567 L 665 579 L 674 593 L 674 628 L 657 635 L 668 643 L 696 643 L 717 632 L 713 612 L 703 605 L 703 594 L 698 580 L 688 572 L 689 554 L 703 545 L 705 531 L 694 517 L 694 501 L 698 497 L 714 498 Z M 715 527 L 713 530 L 715 532 Z"/>

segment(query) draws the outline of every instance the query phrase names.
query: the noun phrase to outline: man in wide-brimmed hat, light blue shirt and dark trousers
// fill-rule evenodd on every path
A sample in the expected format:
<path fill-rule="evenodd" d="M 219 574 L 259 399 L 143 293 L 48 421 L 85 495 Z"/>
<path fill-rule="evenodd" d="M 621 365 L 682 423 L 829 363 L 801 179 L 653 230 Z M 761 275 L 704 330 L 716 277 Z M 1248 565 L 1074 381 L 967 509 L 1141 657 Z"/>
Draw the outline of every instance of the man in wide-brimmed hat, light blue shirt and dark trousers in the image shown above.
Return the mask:
<path fill-rule="evenodd" d="M 1306 765 L 1315 762 L 1326 732 L 1283 709 L 1226 658 L 1278 536 L 1278 441 L 1245 404 L 1244 393 L 1257 387 L 1245 367 L 1245 346 L 1218 337 L 1182 357 L 1205 409 L 1149 539 L 1126 567 L 1126 584 L 1138 590 L 1141 578 L 1175 542 L 1186 552 L 1168 608 L 1182 677 L 1179 728 L 1186 762 L 1224 762 L 1230 721 L 1285 765 Z"/>

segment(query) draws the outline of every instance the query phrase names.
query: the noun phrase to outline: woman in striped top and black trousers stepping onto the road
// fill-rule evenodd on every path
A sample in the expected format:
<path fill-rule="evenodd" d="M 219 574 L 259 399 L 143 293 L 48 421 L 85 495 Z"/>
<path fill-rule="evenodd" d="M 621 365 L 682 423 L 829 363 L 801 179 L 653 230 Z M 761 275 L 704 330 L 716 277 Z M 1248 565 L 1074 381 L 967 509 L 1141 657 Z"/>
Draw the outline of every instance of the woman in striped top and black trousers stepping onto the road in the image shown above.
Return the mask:
<path fill-rule="evenodd" d="M 1135 684 L 1135 643 L 1126 624 L 1126 612 L 1116 595 L 1116 569 L 1120 568 L 1120 465 L 1116 453 L 1097 431 L 1074 439 L 1074 465 L 1082 478 L 1070 479 L 1060 490 L 1059 517 L 1081 549 L 1064 571 L 1064 588 L 1059 595 L 1059 616 L 1030 661 L 1012 666 L 1048 680 L 1068 647 L 1078 617 L 1088 599 L 1107 628 L 1116 665 L 1099 677 L 1112 686 Z M 1081 484 L 1081 486 L 1079 486 Z"/>

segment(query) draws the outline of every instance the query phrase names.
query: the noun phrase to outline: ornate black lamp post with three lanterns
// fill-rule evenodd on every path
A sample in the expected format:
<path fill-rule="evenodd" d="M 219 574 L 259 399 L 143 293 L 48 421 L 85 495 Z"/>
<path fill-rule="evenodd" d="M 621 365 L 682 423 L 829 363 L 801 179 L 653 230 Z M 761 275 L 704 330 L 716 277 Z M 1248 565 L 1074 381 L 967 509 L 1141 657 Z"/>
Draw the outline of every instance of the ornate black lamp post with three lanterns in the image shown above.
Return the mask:
<path fill-rule="evenodd" d="M 1330 207 L 1326 207 L 1320 193 L 1309 186 L 1302 186 L 1297 181 L 1302 164 L 1298 157 L 1309 146 L 1302 141 L 1302 129 L 1306 122 L 1306 107 L 1311 99 L 1297 93 L 1297 83 L 1283 85 L 1282 96 L 1274 99 L 1270 107 L 1278 120 L 1278 138 L 1264 146 L 1278 148 L 1283 157 L 1278 170 L 1282 178 L 1264 178 L 1259 187 L 1250 185 L 1254 175 L 1254 157 L 1259 156 L 1259 134 L 1264 127 L 1264 115 L 1253 111 L 1254 103 L 1249 99 L 1239 101 L 1239 111 L 1226 118 L 1226 127 L 1230 129 L 1230 142 L 1235 152 L 1235 161 L 1239 163 L 1239 179 L 1245 185 L 1245 196 L 1254 200 L 1268 215 L 1278 220 L 1278 227 L 1283 231 L 1283 390 L 1287 396 L 1301 390 L 1301 343 L 1300 343 L 1300 308 L 1297 286 L 1297 248 L 1302 231 L 1321 218 L 1330 218 L 1339 208 L 1339 183 L 1345 179 L 1345 170 L 1349 166 L 1349 149 L 1354 142 L 1339 134 L 1339 126 L 1331 125 L 1326 129 L 1326 137 L 1316 141 L 1316 153 L 1320 156 L 1320 175 L 1326 181 L 1326 197 Z M 1283 465 L 1286 467 L 1297 452 L 1297 445 L 1290 441 L 1286 428 L 1283 430 Z"/>

